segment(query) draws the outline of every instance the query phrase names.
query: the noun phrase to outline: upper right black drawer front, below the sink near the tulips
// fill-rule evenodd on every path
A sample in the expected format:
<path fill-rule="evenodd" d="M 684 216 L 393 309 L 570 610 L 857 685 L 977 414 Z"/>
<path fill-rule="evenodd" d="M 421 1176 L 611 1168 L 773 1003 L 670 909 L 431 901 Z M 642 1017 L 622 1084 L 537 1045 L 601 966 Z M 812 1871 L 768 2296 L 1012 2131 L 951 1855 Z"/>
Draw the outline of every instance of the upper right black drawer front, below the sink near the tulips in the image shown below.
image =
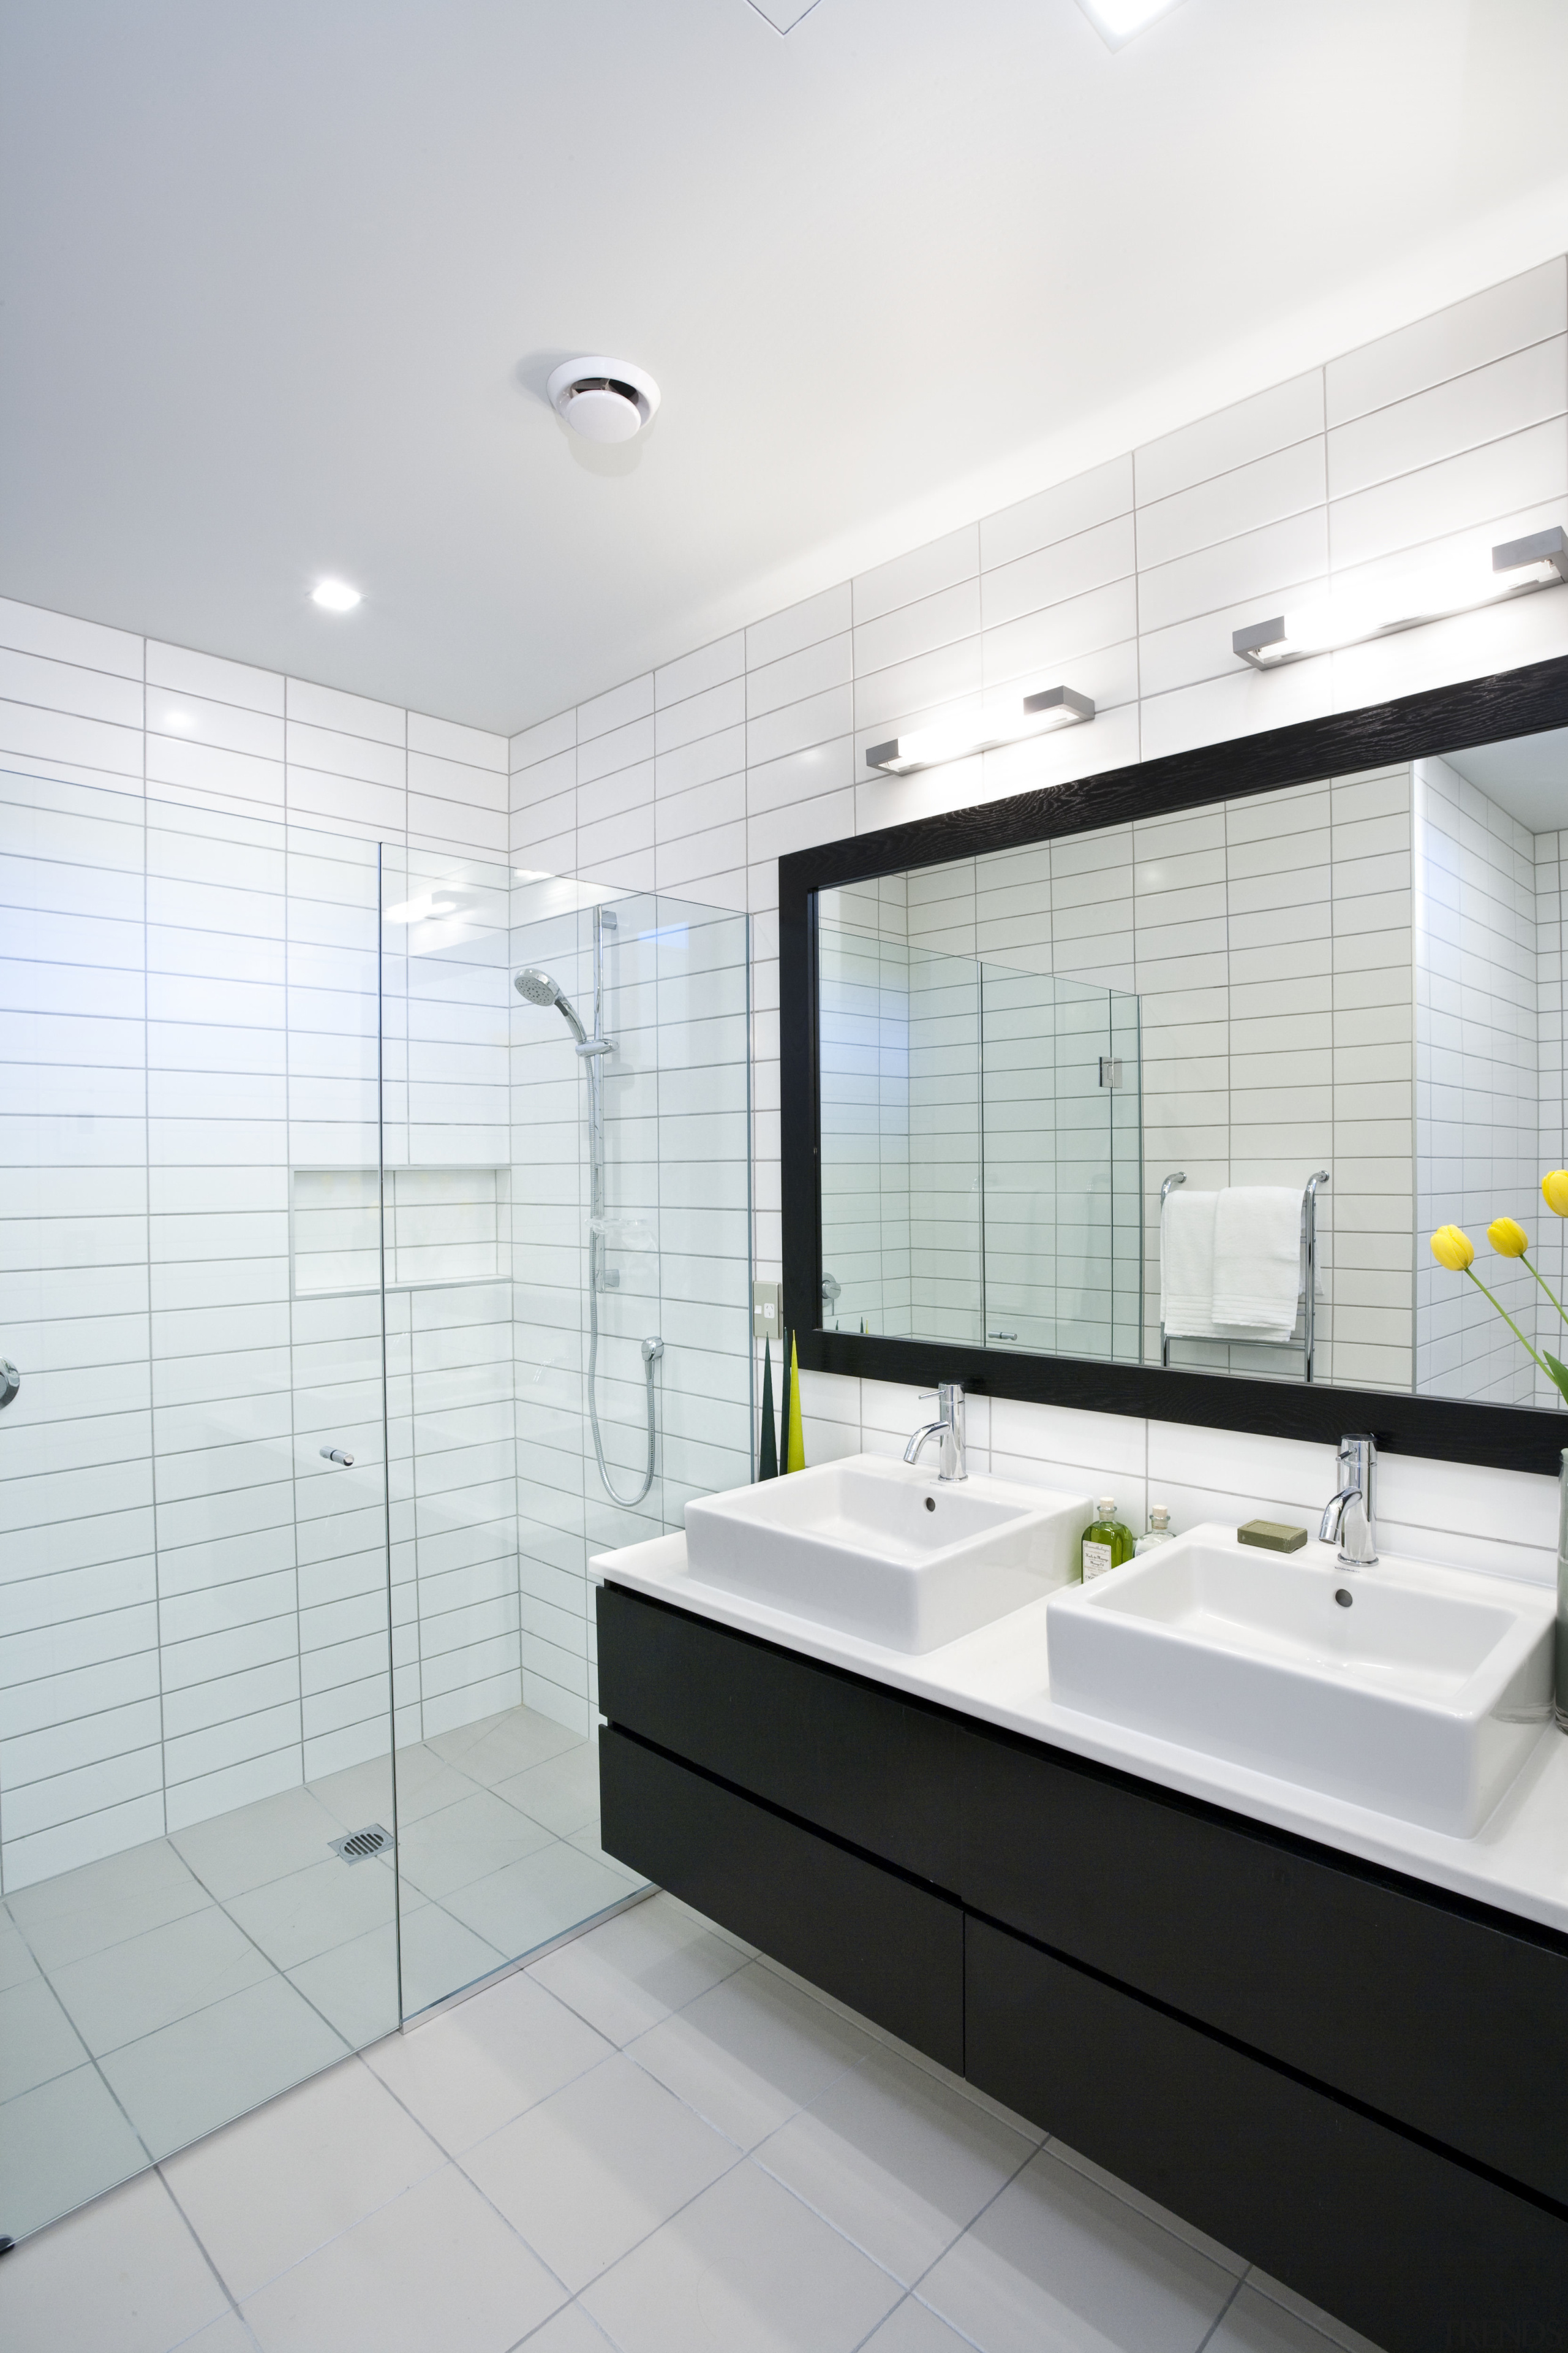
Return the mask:
<path fill-rule="evenodd" d="M 1568 2205 L 1568 1944 L 1001 1734 L 964 1779 L 966 1906 Z"/>

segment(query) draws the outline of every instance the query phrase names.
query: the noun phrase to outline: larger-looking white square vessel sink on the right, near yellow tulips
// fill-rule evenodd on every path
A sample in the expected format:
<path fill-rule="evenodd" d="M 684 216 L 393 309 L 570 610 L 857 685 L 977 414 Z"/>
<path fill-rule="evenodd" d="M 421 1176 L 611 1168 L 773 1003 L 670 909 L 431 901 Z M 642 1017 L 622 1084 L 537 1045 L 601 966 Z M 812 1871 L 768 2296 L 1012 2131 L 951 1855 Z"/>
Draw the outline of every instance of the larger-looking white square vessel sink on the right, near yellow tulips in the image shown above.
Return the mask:
<path fill-rule="evenodd" d="M 1554 1621 L 1542 1586 L 1194 1527 L 1051 1595 L 1051 1697 L 1474 1838 L 1552 1718 Z"/>

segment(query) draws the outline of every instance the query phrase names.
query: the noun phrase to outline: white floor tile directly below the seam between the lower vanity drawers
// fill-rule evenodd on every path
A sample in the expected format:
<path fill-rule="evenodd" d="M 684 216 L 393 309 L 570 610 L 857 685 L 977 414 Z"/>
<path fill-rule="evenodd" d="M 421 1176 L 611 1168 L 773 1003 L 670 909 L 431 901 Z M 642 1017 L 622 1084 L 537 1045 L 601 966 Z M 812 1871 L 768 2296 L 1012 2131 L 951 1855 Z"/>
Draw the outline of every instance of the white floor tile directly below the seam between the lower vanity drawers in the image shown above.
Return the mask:
<path fill-rule="evenodd" d="M 879 2052 L 764 2141 L 757 2162 L 912 2282 L 1032 2155 L 973 2101 Z"/>

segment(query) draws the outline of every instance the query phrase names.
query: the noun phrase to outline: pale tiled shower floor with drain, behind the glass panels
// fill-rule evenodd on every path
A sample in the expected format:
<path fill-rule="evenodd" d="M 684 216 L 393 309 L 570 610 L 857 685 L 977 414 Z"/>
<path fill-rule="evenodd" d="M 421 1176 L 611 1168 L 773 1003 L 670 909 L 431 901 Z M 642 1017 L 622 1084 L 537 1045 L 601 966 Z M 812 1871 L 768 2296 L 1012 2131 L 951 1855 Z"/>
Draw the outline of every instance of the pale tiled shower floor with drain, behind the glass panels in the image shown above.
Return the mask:
<path fill-rule="evenodd" d="M 0 1901 L 0 2233 L 21 2238 L 536 1951 L 639 1880 L 599 1852 L 597 1755 L 531 1708 L 282 1791 Z"/>

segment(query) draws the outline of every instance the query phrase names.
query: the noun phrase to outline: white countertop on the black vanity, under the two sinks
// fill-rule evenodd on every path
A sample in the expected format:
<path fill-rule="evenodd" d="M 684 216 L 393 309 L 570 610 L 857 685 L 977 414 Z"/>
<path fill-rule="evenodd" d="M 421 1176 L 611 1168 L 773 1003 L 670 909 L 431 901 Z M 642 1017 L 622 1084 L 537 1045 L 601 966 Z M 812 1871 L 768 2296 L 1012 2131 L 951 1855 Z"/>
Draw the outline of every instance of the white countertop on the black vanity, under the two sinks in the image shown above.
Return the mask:
<path fill-rule="evenodd" d="M 1547 1725 L 1523 1772 L 1474 1838 L 1448 1838 L 1392 1814 L 1276 1781 L 1225 1758 L 1178 1748 L 1098 1715 L 1058 1706 L 1046 1668 L 1046 1602 L 992 1619 L 943 1649 L 884 1649 L 766 1602 L 698 1584 L 686 1569 L 686 1537 L 656 1537 L 599 1553 L 592 1574 L 607 1584 L 691 1609 L 693 1617 L 762 1635 L 806 1659 L 844 1666 L 870 1682 L 933 1699 L 1009 1732 L 1112 1765 L 1121 1772 L 1204 1798 L 1276 1831 L 1359 1854 L 1368 1864 L 1448 1887 L 1453 1894 L 1540 1920 L 1568 1934 L 1568 1737 Z"/>

